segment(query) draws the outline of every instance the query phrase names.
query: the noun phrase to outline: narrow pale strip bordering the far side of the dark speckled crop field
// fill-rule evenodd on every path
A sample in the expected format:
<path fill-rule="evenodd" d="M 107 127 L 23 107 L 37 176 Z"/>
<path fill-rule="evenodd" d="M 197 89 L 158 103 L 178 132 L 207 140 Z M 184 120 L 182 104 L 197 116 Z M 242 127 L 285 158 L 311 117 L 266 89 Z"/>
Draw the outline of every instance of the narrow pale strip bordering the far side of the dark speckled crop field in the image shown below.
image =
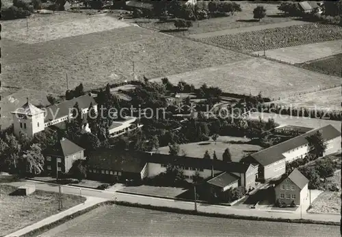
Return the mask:
<path fill-rule="evenodd" d="M 190 34 L 189 38 L 209 38 L 213 36 L 225 36 L 228 34 L 238 34 L 238 33 L 244 33 L 244 32 L 254 32 L 257 30 L 263 30 L 263 29 L 273 29 L 273 28 L 279 28 L 279 27 L 289 27 L 292 25 L 305 25 L 309 22 L 306 21 L 285 21 L 281 23 L 274 23 L 274 24 L 267 24 L 267 25 L 255 25 L 252 27 L 241 27 L 241 28 L 235 28 L 235 29 L 224 29 L 220 30 L 218 32 L 207 32 L 207 33 L 201 33 L 201 34 Z"/>

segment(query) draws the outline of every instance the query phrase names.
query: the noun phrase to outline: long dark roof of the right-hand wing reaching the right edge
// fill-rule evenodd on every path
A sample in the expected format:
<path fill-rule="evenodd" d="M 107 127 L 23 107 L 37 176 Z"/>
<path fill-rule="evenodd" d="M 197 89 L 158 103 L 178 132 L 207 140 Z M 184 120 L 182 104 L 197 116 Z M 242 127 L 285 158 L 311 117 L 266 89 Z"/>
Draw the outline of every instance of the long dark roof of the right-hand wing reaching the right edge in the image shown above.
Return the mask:
<path fill-rule="evenodd" d="M 285 142 L 281 142 L 278 145 L 273 147 L 269 147 L 267 149 L 263 149 L 250 155 L 250 157 L 254 158 L 259 164 L 263 166 L 267 166 L 278 160 L 285 159 L 285 156 L 282 153 L 290 151 L 291 149 L 295 149 L 296 147 L 300 147 L 302 145 L 306 145 L 308 141 L 306 138 L 315 134 L 317 131 L 321 132 L 324 140 L 331 140 L 332 138 L 337 138 L 341 135 L 341 133 L 332 127 L 332 125 L 327 125 L 325 127 L 321 127 L 319 129 L 312 130 L 311 132 L 307 132 L 306 134 L 302 134 L 295 138 L 291 138 Z"/>

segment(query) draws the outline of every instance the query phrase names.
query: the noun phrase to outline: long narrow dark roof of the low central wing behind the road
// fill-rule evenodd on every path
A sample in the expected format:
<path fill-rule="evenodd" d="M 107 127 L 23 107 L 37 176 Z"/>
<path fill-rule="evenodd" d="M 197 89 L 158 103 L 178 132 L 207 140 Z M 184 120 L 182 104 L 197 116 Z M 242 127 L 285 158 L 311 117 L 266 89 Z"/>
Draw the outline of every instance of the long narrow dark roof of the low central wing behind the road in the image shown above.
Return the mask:
<path fill-rule="evenodd" d="M 149 153 L 147 153 L 149 154 Z M 173 156 L 168 154 L 152 153 L 146 157 L 148 162 L 157 164 L 177 164 L 185 167 L 202 169 L 213 168 L 216 171 L 227 171 L 231 173 L 246 173 L 250 164 L 241 162 L 223 162 L 222 160 L 207 160 L 203 158 L 192 158 L 187 156 Z"/>

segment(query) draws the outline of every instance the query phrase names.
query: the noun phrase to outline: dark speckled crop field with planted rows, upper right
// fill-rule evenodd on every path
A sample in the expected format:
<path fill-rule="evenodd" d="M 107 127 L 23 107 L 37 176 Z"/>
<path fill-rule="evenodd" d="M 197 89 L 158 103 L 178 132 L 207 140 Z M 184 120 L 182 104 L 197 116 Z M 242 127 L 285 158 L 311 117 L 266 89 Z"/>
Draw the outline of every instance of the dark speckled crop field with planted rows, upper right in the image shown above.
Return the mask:
<path fill-rule="evenodd" d="M 265 50 L 312 44 L 328 40 L 341 40 L 342 30 L 337 25 L 305 24 L 289 27 L 263 29 L 254 32 L 244 32 L 226 36 L 214 36 L 199 39 L 211 45 L 220 45 L 227 49 L 254 52 L 263 51 L 265 36 Z"/>

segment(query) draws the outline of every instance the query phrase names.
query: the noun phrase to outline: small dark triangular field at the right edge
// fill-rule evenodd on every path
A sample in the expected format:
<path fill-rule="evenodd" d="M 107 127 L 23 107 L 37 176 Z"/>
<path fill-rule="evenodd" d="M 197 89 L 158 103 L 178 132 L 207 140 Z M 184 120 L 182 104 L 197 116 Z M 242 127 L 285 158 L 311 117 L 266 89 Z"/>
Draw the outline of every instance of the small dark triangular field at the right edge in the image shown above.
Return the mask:
<path fill-rule="evenodd" d="M 339 49 L 339 51 L 340 50 L 341 48 Z M 311 71 L 316 71 L 318 73 L 324 73 L 328 75 L 341 77 L 342 53 L 332 55 L 328 58 L 323 58 L 321 60 L 315 60 L 313 62 L 300 64 L 300 66 L 302 66 L 302 68 L 306 68 Z"/>

